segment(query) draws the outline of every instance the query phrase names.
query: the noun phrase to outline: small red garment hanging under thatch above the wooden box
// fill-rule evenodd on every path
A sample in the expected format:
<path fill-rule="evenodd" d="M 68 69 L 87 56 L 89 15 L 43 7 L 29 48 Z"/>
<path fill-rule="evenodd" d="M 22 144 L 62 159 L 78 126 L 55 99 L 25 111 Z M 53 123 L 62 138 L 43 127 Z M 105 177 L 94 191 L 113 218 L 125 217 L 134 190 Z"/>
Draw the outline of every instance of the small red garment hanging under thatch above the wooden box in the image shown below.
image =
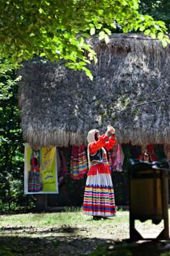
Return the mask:
<path fill-rule="evenodd" d="M 139 160 L 143 160 L 148 163 L 157 161 L 157 157 L 155 156 L 153 144 L 147 145 L 147 147 L 143 146 L 141 148 L 141 152 L 142 152 L 142 154 L 139 156 Z"/>

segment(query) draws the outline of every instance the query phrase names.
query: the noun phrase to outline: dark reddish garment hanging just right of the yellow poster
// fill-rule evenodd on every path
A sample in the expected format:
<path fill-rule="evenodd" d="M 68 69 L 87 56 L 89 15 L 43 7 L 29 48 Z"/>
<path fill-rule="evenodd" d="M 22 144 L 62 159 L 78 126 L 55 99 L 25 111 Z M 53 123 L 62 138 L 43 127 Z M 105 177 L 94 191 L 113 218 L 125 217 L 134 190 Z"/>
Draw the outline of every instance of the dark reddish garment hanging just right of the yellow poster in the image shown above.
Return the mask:
<path fill-rule="evenodd" d="M 66 159 L 64 157 L 64 153 L 57 148 L 57 166 L 59 166 L 57 170 L 58 175 L 58 183 L 62 184 L 65 180 L 65 176 L 68 174 Z"/>

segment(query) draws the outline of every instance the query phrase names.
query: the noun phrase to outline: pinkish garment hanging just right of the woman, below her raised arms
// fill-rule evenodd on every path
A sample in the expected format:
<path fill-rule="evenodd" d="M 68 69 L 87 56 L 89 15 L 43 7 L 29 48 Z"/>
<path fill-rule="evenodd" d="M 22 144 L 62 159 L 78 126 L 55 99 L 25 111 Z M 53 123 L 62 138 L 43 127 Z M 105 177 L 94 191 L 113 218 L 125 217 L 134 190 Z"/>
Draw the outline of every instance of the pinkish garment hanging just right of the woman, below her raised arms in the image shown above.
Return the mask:
<path fill-rule="evenodd" d="M 124 152 L 120 143 L 117 143 L 113 148 L 111 148 L 110 153 L 112 170 L 122 172 L 122 166 L 124 163 Z"/>

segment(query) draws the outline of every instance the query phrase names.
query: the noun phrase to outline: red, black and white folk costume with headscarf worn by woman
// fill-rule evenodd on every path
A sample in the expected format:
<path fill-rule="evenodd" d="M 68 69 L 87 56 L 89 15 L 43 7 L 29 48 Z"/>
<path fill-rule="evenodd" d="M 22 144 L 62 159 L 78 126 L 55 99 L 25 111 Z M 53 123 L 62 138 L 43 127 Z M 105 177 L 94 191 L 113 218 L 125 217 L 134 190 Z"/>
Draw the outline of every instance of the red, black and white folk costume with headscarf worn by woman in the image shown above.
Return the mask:
<path fill-rule="evenodd" d="M 92 216 L 116 216 L 115 196 L 111 180 L 111 170 L 108 164 L 107 151 L 113 148 L 117 139 L 115 134 L 106 132 L 97 141 L 96 129 L 91 130 L 87 136 L 89 142 L 87 156 L 89 172 L 85 185 L 83 214 Z M 106 142 L 109 138 L 109 141 Z"/>

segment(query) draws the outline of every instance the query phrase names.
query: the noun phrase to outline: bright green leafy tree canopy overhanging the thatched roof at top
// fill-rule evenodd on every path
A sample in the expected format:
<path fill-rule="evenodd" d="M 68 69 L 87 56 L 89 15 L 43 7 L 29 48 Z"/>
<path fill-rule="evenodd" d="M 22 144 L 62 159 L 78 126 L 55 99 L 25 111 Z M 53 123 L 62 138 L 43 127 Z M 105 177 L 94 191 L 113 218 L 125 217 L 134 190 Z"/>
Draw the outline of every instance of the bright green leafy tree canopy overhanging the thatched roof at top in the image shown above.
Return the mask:
<path fill-rule="evenodd" d="M 124 33 L 145 31 L 166 47 L 169 38 L 162 21 L 138 13 L 139 0 L 1 0 L 0 55 L 13 65 L 34 54 L 51 61 L 66 60 L 66 66 L 85 70 L 96 61 L 95 52 L 85 37 L 100 29 L 99 40 L 109 41 L 110 28 L 122 26 Z M 89 35 L 90 34 L 90 35 Z M 89 52 L 85 57 L 83 52 Z M 80 61 L 81 60 L 81 61 Z"/>

